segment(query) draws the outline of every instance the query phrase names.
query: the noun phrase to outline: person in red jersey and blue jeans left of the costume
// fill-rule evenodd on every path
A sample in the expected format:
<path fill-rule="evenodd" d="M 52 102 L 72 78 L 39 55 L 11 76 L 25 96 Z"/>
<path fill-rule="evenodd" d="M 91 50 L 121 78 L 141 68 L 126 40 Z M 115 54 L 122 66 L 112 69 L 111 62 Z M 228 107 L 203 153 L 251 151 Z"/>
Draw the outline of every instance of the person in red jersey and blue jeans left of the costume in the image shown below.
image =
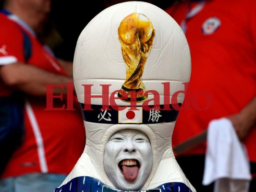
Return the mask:
<path fill-rule="evenodd" d="M 84 123 L 73 96 L 72 62 L 58 60 L 37 38 L 47 22 L 50 0 L 5 0 L 3 8 L 0 96 L 9 97 L 16 90 L 24 93 L 24 138 L 4 167 L 0 191 L 52 192 L 72 170 L 85 145 Z M 46 110 L 49 84 L 64 87 L 53 88 L 53 95 L 62 96 L 53 101 L 52 109 L 58 110 Z M 69 103 L 73 106 L 68 110 L 64 110 L 65 87 L 72 95 Z"/>

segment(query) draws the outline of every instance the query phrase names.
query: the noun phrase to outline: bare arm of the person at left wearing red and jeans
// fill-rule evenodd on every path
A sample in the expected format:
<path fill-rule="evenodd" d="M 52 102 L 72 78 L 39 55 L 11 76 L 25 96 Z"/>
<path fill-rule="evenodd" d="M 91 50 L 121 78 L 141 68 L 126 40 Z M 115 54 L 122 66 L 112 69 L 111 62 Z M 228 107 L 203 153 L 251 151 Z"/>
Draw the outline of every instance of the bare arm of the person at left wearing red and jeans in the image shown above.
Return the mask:
<path fill-rule="evenodd" d="M 47 72 L 33 65 L 20 62 L 0 66 L 0 77 L 6 85 L 33 96 L 45 96 L 45 84 L 73 82 L 70 77 Z M 65 93 L 65 90 L 55 87 L 54 94 L 60 93 Z"/>

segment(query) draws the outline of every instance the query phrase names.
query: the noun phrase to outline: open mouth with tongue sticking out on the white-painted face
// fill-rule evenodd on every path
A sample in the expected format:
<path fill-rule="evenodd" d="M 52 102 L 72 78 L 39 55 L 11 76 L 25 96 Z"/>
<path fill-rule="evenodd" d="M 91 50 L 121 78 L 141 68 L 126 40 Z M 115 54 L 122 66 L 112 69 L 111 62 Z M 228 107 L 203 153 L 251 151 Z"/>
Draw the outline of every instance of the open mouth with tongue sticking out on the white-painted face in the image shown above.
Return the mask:
<path fill-rule="evenodd" d="M 118 167 L 125 180 L 133 181 L 138 176 L 140 163 L 136 159 L 124 159 L 119 162 Z"/>

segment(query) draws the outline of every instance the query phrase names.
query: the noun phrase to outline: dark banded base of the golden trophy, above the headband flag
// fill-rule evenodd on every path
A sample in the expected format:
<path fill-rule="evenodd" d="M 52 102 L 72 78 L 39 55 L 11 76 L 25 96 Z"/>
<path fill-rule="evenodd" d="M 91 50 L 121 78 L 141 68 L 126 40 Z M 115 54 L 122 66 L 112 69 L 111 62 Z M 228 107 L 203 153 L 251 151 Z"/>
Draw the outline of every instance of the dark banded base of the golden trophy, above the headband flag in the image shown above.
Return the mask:
<path fill-rule="evenodd" d="M 117 94 L 118 97 L 122 101 L 125 102 L 142 102 L 147 99 L 148 95 L 146 93 L 146 89 L 139 88 L 139 89 L 128 89 L 122 85 L 122 88 Z"/>

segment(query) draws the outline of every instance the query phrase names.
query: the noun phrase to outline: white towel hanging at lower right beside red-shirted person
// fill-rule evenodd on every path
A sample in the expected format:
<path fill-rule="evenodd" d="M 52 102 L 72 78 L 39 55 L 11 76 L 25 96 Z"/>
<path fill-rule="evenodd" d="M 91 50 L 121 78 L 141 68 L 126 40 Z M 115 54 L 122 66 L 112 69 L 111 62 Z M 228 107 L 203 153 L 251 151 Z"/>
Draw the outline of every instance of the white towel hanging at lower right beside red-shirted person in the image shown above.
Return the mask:
<path fill-rule="evenodd" d="M 227 118 L 210 121 L 203 185 L 215 181 L 214 192 L 248 192 L 251 180 L 246 148 Z"/>

